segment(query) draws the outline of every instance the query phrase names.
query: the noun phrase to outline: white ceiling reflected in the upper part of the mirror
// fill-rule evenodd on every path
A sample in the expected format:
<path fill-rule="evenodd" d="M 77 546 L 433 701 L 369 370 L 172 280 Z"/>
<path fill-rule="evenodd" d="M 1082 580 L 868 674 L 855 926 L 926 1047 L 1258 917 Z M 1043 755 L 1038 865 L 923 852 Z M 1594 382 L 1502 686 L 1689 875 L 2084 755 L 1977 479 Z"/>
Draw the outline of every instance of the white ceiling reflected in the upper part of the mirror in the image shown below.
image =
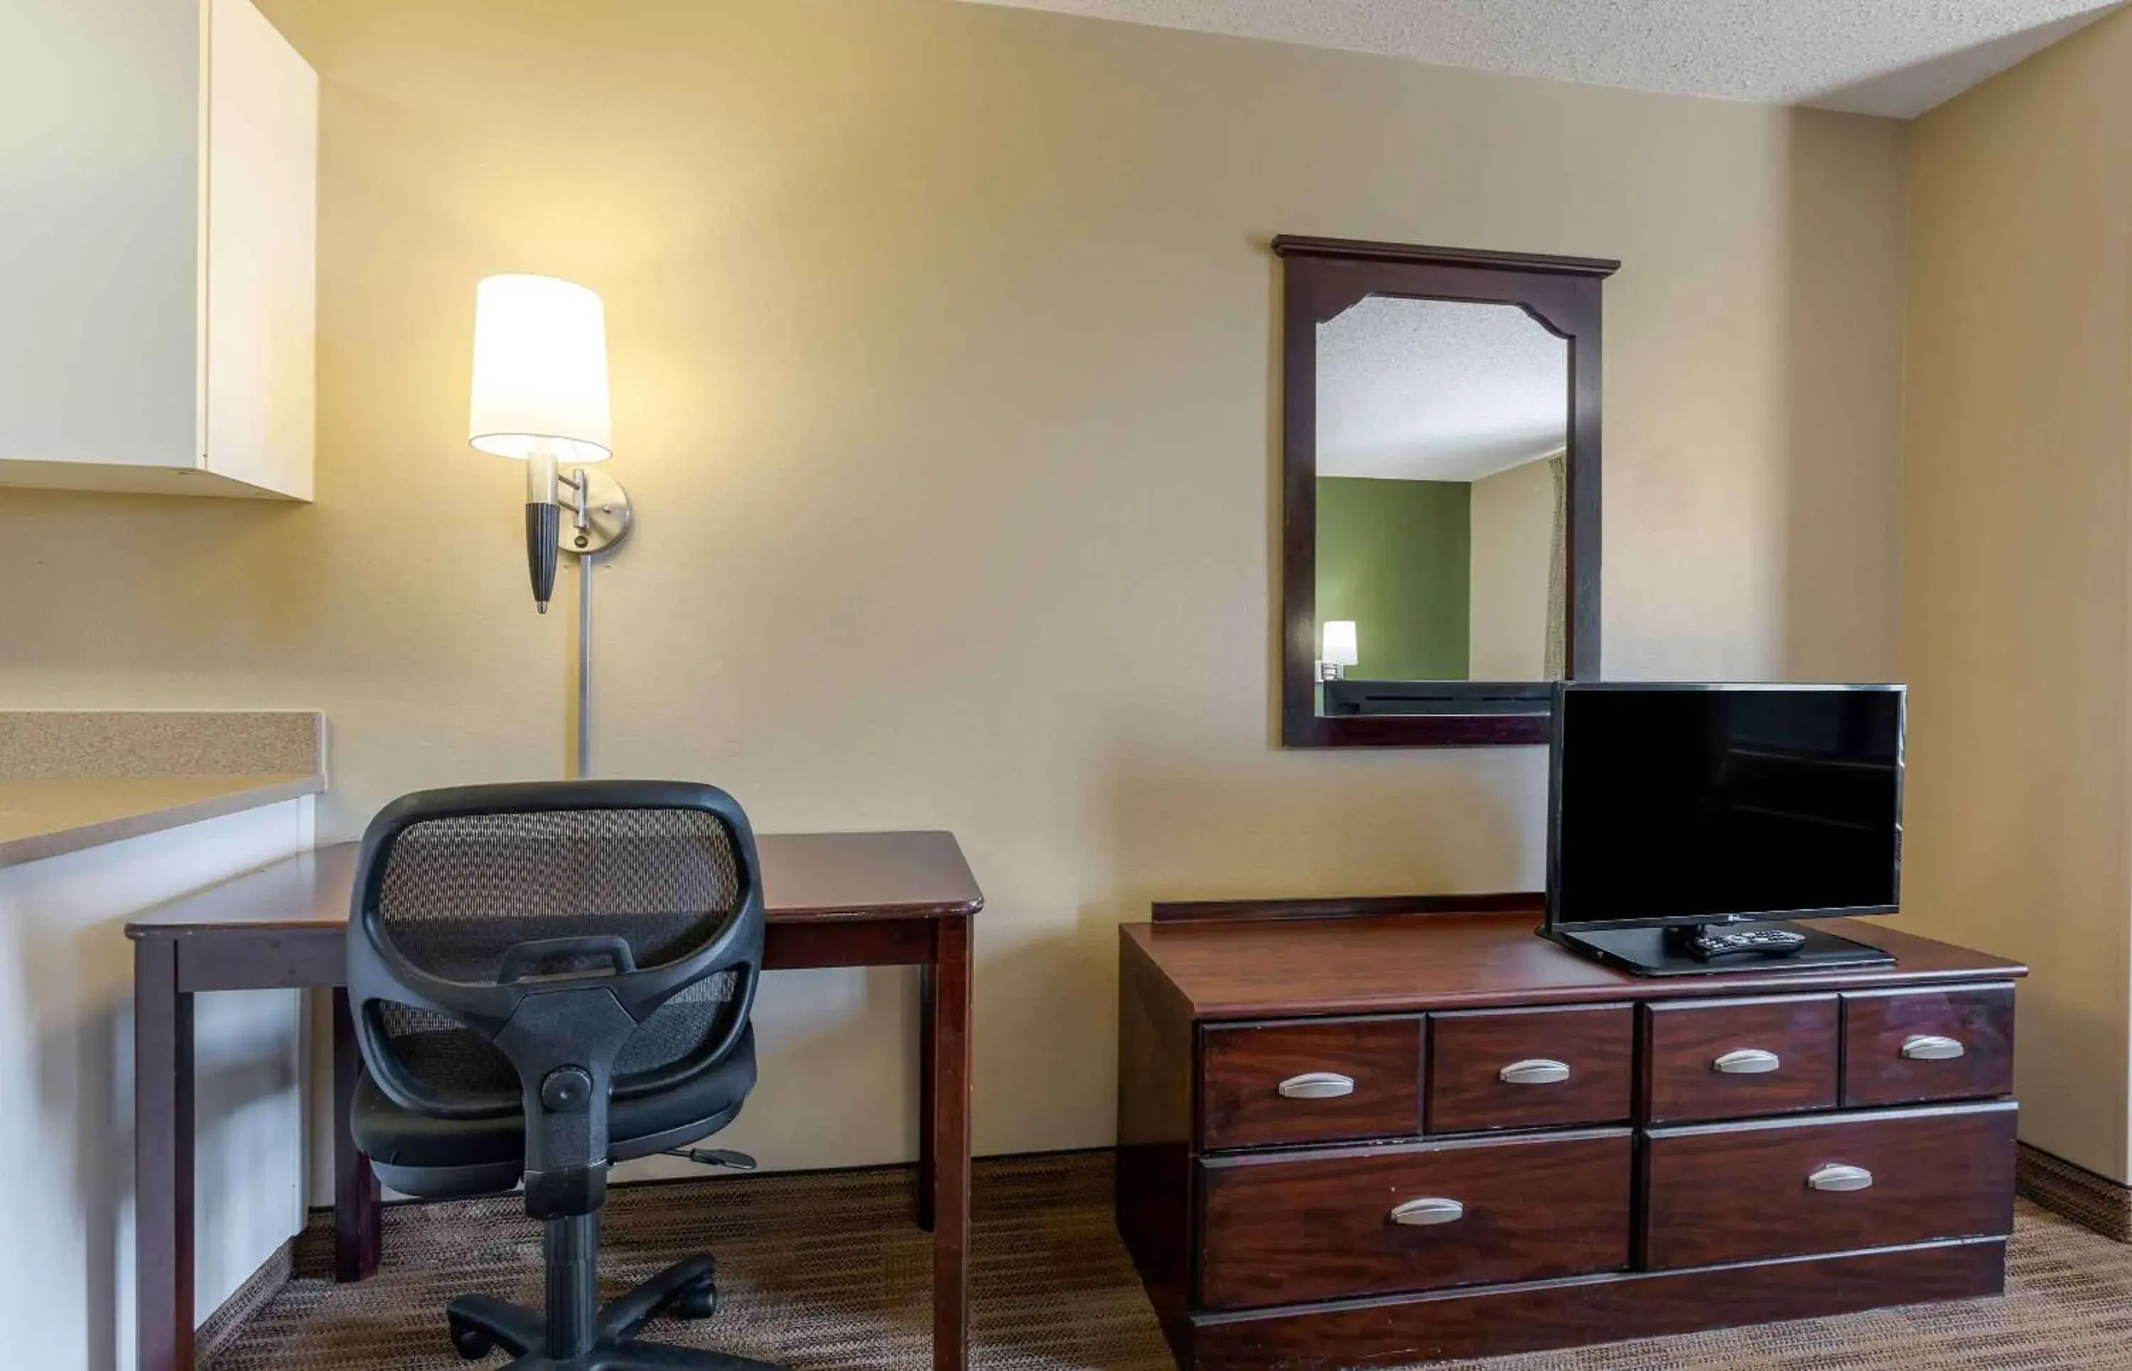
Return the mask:
<path fill-rule="evenodd" d="M 1516 305 L 1369 296 L 1318 326 L 1318 475 L 1480 480 L 1567 424 L 1569 343 Z"/>

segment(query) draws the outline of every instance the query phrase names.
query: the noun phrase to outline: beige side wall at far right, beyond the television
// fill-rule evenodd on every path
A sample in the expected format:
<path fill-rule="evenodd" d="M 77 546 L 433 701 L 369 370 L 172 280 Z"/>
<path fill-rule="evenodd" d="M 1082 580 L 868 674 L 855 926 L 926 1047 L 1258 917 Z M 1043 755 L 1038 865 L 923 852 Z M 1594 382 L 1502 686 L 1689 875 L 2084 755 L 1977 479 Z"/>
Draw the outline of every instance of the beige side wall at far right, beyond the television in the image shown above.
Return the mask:
<path fill-rule="evenodd" d="M 2032 964 L 2021 1136 L 2126 1156 L 2132 17 L 1910 139 L 1904 906 Z"/>

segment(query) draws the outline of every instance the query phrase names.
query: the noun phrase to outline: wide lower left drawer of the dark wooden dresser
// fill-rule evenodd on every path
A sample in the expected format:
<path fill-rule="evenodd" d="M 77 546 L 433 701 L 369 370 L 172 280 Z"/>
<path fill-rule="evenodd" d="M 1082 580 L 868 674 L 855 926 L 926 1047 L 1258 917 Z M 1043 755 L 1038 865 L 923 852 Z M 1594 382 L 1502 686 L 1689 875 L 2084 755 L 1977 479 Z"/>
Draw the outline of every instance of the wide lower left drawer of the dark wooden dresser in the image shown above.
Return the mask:
<path fill-rule="evenodd" d="M 1529 1281 L 1629 1264 L 1631 1134 L 1200 1162 L 1200 1305 Z"/>

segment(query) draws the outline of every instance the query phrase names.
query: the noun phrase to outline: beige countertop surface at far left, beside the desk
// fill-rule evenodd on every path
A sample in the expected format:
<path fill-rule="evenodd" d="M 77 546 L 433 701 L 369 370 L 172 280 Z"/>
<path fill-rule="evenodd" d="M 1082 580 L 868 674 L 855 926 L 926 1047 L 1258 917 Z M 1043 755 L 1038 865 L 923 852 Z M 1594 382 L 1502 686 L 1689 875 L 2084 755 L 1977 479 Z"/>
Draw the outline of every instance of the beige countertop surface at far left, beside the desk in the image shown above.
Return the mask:
<path fill-rule="evenodd" d="M 0 778 L 0 866 L 139 838 L 326 789 L 320 774 Z"/>

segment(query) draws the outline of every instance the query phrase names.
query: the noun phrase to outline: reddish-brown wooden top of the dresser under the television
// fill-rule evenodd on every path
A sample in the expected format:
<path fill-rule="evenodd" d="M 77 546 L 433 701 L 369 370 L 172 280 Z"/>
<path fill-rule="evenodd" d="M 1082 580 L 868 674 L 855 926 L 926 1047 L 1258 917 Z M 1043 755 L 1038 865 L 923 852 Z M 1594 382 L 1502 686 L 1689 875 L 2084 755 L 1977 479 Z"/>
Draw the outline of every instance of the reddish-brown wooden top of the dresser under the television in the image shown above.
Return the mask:
<path fill-rule="evenodd" d="M 2006 981 L 2019 962 L 1834 919 L 1829 932 L 1895 953 L 1893 966 L 1631 977 L 1533 934 L 1531 913 L 1426 913 L 1369 919 L 1128 923 L 1138 949 L 1196 1019 L 1576 1004 L 1693 996 L 1780 996 Z"/>

